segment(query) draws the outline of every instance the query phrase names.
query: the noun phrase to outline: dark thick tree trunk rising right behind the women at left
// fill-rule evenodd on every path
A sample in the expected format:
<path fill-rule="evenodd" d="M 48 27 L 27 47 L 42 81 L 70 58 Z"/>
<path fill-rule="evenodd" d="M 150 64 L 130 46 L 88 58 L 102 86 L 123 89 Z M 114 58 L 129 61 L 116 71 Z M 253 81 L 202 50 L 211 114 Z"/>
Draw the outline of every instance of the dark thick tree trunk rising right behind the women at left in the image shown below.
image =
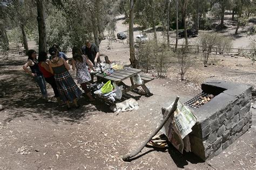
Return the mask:
<path fill-rule="evenodd" d="M 37 22 L 38 22 L 38 34 L 39 34 L 38 52 L 39 53 L 47 52 L 43 0 L 36 0 L 36 4 L 37 4 Z"/>

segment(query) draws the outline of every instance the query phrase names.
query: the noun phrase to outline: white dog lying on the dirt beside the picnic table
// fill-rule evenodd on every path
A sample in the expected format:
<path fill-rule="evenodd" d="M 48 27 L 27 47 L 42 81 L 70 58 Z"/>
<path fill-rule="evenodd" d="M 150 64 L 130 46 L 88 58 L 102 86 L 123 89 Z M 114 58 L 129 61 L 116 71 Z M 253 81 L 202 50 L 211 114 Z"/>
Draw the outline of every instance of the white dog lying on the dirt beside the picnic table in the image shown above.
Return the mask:
<path fill-rule="evenodd" d="M 117 112 L 116 115 L 118 115 L 120 111 L 124 112 L 139 109 L 139 103 L 134 98 L 129 98 L 128 100 L 121 103 L 111 104 L 110 109 L 113 112 Z"/>

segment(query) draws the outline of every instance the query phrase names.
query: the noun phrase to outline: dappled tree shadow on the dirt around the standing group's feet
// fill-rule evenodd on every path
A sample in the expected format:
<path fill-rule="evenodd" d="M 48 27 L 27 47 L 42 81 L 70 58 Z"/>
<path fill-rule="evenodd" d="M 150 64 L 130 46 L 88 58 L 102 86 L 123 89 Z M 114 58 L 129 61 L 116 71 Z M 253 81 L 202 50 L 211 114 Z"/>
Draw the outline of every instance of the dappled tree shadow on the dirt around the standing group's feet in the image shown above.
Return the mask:
<path fill-rule="evenodd" d="M 12 63 L 13 65 L 21 65 L 21 63 L 17 61 L 17 63 Z M 4 65 L 1 64 L 1 66 Z M 63 118 L 71 123 L 79 123 L 86 121 L 92 112 L 96 114 L 95 111 L 97 111 L 95 106 L 86 102 L 83 97 L 78 100 L 81 107 L 69 111 L 65 106 L 58 107 L 56 102 L 46 102 L 35 81 L 23 70 L 3 70 L 0 75 L 0 85 L 0 91 L 5 92 L 5 96 L 0 98 L 0 102 L 5 110 L 9 110 L 9 115 L 4 119 L 4 123 L 27 115 L 32 116 L 35 120 L 40 116 L 51 119 L 55 123 L 63 121 Z"/>

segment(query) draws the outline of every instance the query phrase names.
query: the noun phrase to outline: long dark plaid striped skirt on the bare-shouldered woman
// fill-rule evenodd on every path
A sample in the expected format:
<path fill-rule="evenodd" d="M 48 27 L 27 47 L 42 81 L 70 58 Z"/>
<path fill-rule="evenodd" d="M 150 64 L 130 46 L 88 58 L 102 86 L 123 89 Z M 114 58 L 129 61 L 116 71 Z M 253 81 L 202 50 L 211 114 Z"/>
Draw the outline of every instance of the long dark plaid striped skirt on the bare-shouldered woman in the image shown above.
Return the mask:
<path fill-rule="evenodd" d="M 69 71 L 54 75 L 59 97 L 64 102 L 73 101 L 82 95 L 82 91 L 77 87 L 77 84 L 71 77 Z"/>

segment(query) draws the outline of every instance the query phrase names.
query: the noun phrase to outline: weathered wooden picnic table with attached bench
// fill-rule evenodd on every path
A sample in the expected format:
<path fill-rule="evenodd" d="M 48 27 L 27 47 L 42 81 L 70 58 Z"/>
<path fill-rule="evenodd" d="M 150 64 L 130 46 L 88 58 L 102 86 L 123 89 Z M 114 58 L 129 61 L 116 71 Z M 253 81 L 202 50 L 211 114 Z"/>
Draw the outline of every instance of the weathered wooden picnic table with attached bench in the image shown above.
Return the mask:
<path fill-rule="evenodd" d="M 136 69 L 136 68 L 130 68 L 130 67 L 124 67 L 123 69 L 114 70 L 114 72 L 111 75 L 104 75 L 103 73 L 97 73 L 97 81 L 109 81 L 114 82 L 117 84 L 117 86 L 123 85 L 122 94 L 127 93 L 128 91 L 132 91 L 138 87 L 142 87 L 143 90 L 146 93 L 146 96 L 151 96 L 152 93 L 150 93 L 150 90 L 146 87 L 145 83 L 152 81 L 154 78 L 146 75 L 141 75 L 142 70 Z M 132 77 L 136 74 L 140 75 L 140 78 L 143 80 L 142 84 L 135 84 L 133 82 Z M 130 79 L 131 86 L 126 85 L 123 81 Z"/>

